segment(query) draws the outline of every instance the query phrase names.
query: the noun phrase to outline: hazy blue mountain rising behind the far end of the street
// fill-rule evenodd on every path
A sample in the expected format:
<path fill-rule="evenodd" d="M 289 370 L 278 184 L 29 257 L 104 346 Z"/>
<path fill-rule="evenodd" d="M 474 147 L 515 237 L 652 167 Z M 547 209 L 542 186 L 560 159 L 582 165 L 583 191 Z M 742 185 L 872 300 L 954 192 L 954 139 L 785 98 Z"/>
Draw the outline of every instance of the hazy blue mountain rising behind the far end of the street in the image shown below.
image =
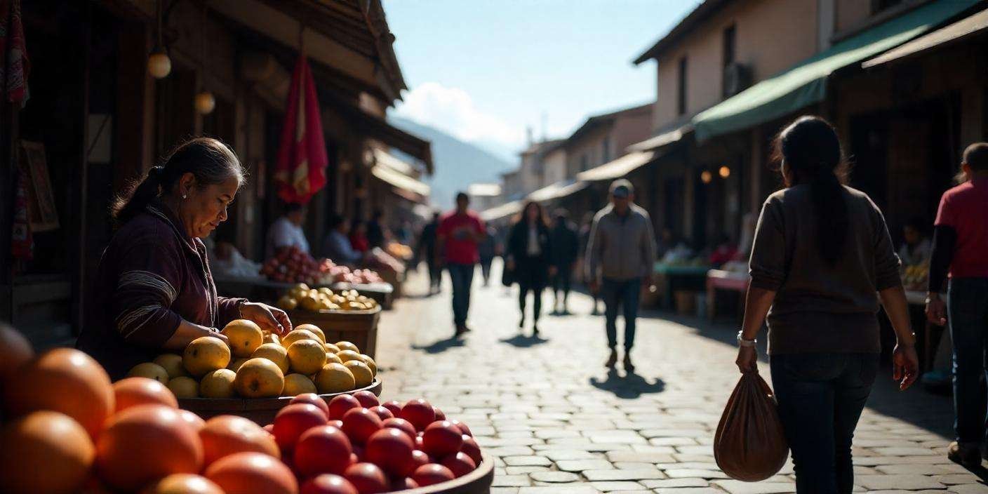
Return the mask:
<path fill-rule="evenodd" d="M 432 187 L 432 203 L 453 206 L 453 196 L 476 182 L 498 182 L 500 174 L 518 166 L 490 151 L 463 142 L 442 130 L 417 124 L 400 117 L 388 117 L 388 123 L 432 142 L 436 174 L 426 182 Z"/>

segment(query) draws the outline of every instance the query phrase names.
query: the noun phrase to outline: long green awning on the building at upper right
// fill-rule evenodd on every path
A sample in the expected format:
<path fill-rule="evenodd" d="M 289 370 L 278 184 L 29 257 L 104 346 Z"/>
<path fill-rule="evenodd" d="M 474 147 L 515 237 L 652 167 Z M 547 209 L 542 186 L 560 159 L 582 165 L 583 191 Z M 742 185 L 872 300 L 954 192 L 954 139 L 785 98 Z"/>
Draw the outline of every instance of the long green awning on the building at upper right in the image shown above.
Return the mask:
<path fill-rule="evenodd" d="M 823 101 L 835 70 L 912 40 L 980 0 L 937 0 L 875 26 L 755 84 L 693 119 L 698 141 L 779 119 Z"/>

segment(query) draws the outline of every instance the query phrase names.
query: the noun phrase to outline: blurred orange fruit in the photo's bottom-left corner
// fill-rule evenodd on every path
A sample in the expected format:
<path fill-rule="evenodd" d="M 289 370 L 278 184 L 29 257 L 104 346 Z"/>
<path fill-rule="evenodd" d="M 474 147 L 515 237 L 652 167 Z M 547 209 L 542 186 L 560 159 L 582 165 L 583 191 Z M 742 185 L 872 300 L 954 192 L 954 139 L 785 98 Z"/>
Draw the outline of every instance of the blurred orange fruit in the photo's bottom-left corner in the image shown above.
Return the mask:
<path fill-rule="evenodd" d="M 96 450 L 89 434 L 68 415 L 41 410 L 0 431 L 0 492 L 78 492 Z"/>

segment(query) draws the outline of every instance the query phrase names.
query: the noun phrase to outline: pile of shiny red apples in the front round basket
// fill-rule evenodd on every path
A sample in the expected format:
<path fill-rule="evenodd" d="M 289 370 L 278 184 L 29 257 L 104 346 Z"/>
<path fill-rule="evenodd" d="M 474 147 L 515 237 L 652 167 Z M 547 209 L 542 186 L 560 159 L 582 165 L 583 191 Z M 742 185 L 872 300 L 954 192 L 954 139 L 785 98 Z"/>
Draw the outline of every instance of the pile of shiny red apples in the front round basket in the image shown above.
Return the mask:
<path fill-rule="evenodd" d="M 301 482 L 301 494 L 377 494 L 453 480 L 480 464 L 470 429 L 423 399 L 379 403 L 370 391 L 329 404 L 291 399 L 265 429 Z"/>

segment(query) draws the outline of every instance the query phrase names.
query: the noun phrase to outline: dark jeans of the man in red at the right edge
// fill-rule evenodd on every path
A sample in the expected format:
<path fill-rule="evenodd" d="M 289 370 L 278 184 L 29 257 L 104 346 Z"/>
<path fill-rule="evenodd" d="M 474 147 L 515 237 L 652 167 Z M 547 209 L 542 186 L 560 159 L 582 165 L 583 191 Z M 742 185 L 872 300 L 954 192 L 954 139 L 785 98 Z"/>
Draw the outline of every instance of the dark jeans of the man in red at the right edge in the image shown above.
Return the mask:
<path fill-rule="evenodd" d="M 980 401 L 988 358 L 988 278 L 950 280 L 947 321 L 953 340 L 953 430 L 958 443 L 978 446 L 988 420 Z"/>

